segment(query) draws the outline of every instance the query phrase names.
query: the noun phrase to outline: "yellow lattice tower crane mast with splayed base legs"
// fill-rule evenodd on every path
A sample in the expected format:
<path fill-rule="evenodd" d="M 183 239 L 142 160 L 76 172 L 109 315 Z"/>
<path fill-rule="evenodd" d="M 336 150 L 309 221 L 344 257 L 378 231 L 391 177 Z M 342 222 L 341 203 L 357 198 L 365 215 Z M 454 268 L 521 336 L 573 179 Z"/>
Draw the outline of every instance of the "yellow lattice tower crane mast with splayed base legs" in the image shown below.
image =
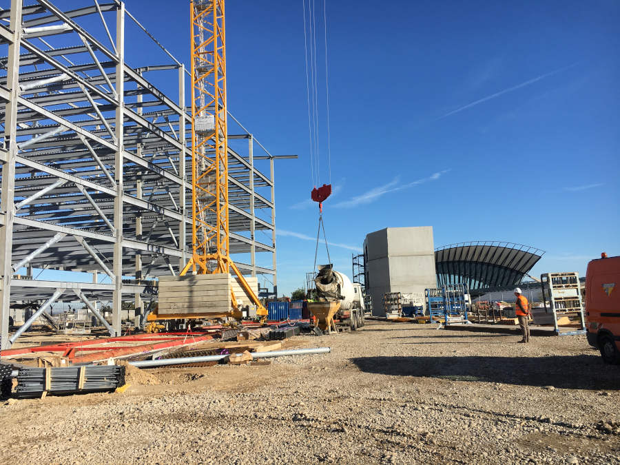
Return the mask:
<path fill-rule="evenodd" d="M 267 310 L 230 258 L 226 34 L 224 0 L 190 3 L 192 28 L 192 258 L 181 271 L 236 274 L 249 299 Z M 231 291 L 233 309 L 237 309 Z M 237 312 L 234 312 L 237 314 Z"/>

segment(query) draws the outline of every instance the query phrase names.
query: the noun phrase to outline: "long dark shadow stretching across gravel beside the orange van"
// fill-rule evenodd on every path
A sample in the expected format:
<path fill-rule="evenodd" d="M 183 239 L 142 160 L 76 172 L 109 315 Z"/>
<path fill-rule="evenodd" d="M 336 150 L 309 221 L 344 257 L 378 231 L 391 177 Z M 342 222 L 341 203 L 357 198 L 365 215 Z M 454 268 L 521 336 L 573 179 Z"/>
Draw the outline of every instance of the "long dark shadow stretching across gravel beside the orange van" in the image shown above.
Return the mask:
<path fill-rule="evenodd" d="M 359 357 L 351 361 L 366 373 L 499 382 L 561 389 L 620 389 L 620 366 L 600 355 L 548 357 Z"/>

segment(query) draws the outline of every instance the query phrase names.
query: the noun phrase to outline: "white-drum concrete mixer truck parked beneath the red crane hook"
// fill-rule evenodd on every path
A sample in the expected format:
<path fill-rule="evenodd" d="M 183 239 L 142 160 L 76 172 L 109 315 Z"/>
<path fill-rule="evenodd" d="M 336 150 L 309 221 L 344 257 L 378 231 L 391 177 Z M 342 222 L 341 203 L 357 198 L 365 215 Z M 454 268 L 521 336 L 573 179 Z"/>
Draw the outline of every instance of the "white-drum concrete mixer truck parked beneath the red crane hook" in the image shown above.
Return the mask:
<path fill-rule="evenodd" d="M 316 302 L 338 304 L 333 320 L 338 324 L 351 327 L 353 331 L 364 326 L 364 296 L 358 282 L 351 283 L 347 275 L 333 271 L 332 265 L 319 265 L 319 271 L 314 278 L 316 288 Z M 312 305 L 309 304 L 312 311 Z M 324 329 L 324 328 L 322 328 Z M 329 321 L 327 322 L 329 331 Z"/>

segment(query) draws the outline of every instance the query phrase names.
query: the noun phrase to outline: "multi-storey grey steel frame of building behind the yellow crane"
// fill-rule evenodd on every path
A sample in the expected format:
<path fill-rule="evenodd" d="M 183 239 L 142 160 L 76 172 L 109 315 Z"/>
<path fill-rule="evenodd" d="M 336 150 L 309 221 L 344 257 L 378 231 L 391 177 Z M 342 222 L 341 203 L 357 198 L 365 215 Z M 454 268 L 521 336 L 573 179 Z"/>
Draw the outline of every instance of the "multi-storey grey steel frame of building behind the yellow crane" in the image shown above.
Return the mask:
<path fill-rule="evenodd" d="M 105 34 L 83 28 L 81 19 L 98 21 Z M 111 332 L 118 334 L 121 302 L 135 300 L 143 307 L 145 285 L 154 284 L 148 278 L 177 274 L 192 256 L 187 72 L 165 49 L 174 64 L 128 65 L 127 19 L 146 32 L 118 0 L 95 0 L 69 11 L 49 0 L 34 6 L 11 0 L 10 9 L 0 10 L 0 54 L 6 56 L 0 58 L 6 70 L 0 75 L 3 349 L 15 302 L 44 302 L 35 314 L 63 298 L 96 311 L 92 301 L 112 295 Z M 174 74 L 178 97 L 145 79 L 154 71 Z M 224 152 L 228 253 L 249 254 L 251 262 L 237 267 L 253 276 L 273 275 L 276 286 L 273 160 L 278 157 L 266 149 L 254 156 L 258 141 L 238 127 L 229 138 L 247 140 L 247 155 L 230 147 Z M 269 161 L 269 176 L 256 160 Z M 260 230 L 270 244 L 256 239 Z M 260 252 L 271 254 L 272 268 L 257 265 Z M 26 276 L 17 275 L 23 267 Z M 88 272 L 95 279 L 36 280 L 32 268 Z M 110 284 L 98 282 L 97 273 L 109 276 Z"/>

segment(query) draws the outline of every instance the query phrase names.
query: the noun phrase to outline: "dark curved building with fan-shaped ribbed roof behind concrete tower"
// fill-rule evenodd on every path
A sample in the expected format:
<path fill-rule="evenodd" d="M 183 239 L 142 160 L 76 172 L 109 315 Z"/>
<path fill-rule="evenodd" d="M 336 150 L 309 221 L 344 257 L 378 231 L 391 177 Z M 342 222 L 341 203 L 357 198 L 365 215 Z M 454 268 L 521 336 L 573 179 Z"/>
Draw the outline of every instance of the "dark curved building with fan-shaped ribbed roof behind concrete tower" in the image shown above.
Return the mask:
<path fill-rule="evenodd" d="M 435 249 L 437 285 L 469 289 L 517 285 L 545 252 L 512 242 L 461 242 Z"/>

